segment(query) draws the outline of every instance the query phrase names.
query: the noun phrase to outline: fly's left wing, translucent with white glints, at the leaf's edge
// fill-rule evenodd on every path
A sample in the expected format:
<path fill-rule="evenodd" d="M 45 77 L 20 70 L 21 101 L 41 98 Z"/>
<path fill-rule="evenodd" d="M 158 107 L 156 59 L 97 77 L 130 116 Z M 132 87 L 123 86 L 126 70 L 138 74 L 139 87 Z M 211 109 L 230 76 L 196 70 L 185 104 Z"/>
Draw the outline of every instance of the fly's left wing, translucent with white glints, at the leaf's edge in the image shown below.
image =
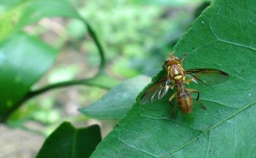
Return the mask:
<path fill-rule="evenodd" d="M 154 102 L 161 99 L 170 88 L 170 80 L 168 76 L 165 76 L 148 88 L 140 97 L 142 104 Z"/>

